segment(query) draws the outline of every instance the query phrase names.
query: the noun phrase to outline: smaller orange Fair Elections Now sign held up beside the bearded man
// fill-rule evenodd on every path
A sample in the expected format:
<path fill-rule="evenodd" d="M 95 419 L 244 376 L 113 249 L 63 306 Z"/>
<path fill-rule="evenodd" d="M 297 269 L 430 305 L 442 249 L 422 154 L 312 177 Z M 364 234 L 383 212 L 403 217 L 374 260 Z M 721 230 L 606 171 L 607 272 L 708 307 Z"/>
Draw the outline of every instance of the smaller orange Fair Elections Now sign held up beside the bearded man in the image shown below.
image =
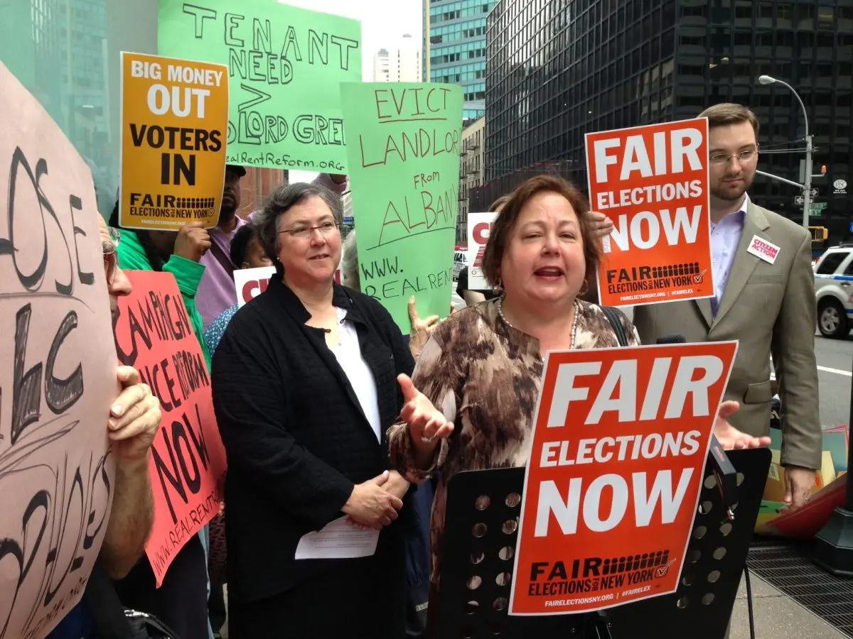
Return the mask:
<path fill-rule="evenodd" d="M 590 206 L 615 227 L 602 305 L 714 296 L 707 141 L 705 118 L 586 135 Z"/>

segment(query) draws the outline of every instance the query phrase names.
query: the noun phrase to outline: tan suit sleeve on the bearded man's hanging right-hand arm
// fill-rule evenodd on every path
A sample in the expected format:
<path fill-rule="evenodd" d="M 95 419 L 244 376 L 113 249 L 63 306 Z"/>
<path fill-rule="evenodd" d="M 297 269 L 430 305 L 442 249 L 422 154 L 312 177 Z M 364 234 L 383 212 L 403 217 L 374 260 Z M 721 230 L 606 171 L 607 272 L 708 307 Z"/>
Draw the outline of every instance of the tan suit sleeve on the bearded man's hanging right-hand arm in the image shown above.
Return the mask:
<path fill-rule="evenodd" d="M 816 314 L 811 237 L 804 232 L 788 273 L 771 343 L 782 404 L 783 466 L 821 468 L 823 446 L 815 360 Z"/>

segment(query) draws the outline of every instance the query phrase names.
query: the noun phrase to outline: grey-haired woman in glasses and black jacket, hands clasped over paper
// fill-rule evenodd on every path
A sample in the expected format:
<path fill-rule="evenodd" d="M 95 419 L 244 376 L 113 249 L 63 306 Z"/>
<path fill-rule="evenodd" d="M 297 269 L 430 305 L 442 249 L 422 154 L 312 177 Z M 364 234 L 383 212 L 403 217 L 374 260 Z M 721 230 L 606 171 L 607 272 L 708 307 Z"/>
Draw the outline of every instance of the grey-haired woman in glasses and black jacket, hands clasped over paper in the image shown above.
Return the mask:
<path fill-rule="evenodd" d="M 391 315 L 334 284 L 340 222 L 323 187 L 272 194 L 254 223 L 277 275 L 213 359 L 233 639 L 405 633 L 409 484 L 388 471 L 386 430 L 407 402 L 410 421 L 444 417 L 409 377 L 398 385 L 414 361 Z M 295 558 L 300 538 L 341 518 L 380 531 L 372 556 Z"/>

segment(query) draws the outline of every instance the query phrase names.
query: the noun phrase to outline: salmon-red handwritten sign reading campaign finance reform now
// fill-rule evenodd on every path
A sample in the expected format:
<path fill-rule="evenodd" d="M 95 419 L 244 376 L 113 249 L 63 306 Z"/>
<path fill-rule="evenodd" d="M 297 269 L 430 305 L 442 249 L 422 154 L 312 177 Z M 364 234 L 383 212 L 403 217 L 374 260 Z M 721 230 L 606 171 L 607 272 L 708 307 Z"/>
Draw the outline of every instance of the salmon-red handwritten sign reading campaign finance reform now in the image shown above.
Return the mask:
<path fill-rule="evenodd" d="M 154 532 L 145 551 L 157 586 L 183 544 L 219 512 L 225 450 L 213 414 L 210 373 L 171 273 L 125 271 L 133 292 L 119 297 L 119 360 L 160 399 L 163 420 L 151 448 Z"/>

